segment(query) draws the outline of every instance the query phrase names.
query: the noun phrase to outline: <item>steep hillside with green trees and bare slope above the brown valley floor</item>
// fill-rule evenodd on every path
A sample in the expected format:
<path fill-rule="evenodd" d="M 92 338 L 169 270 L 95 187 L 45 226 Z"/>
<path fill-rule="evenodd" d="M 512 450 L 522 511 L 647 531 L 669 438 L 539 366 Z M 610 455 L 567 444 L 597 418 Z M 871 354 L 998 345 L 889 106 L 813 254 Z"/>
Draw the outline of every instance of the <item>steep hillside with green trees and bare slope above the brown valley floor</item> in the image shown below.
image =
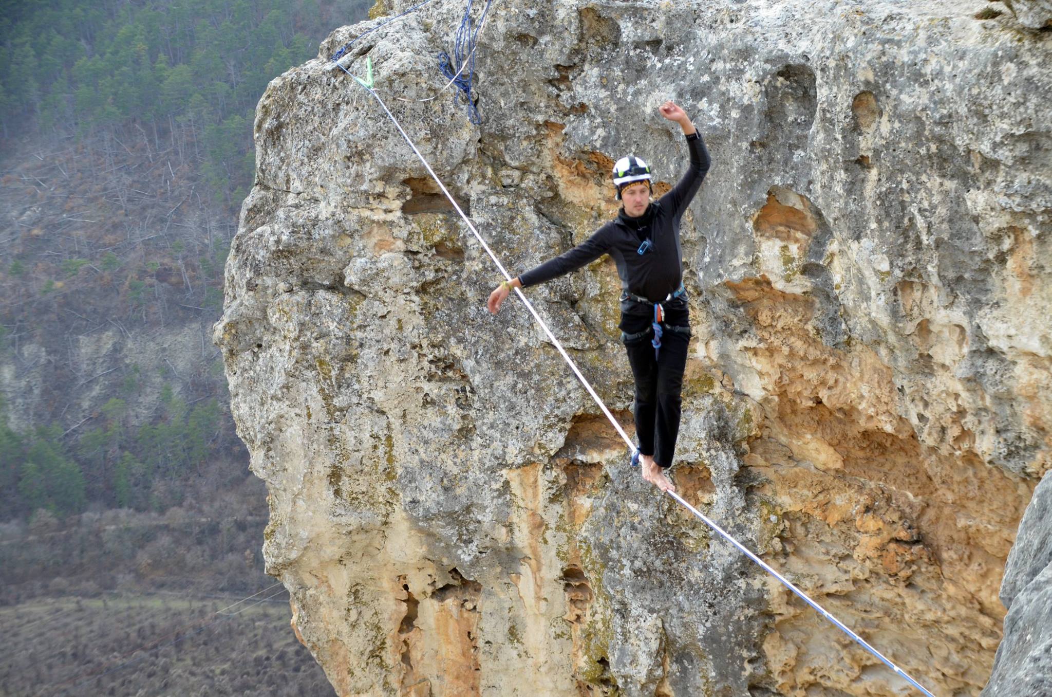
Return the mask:
<path fill-rule="evenodd" d="M 368 4 L 0 3 L 0 520 L 243 471 L 208 327 L 254 109 Z"/>

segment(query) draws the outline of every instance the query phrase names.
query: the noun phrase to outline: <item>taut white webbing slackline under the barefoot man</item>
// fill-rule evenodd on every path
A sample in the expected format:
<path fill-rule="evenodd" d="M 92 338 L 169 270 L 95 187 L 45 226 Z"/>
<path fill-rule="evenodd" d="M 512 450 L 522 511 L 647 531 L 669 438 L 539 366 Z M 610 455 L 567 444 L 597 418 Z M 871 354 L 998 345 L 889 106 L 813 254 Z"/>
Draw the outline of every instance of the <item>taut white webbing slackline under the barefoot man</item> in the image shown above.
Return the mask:
<path fill-rule="evenodd" d="M 337 65 L 339 65 L 339 67 L 341 69 L 343 69 L 345 73 L 347 73 L 348 75 L 350 75 L 350 73 L 347 72 L 347 69 L 344 68 L 343 65 L 340 65 L 339 63 Z M 351 76 L 351 77 L 353 77 L 353 76 Z M 362 86 L 365 87 L 364 84 Z M 486 251 L 486 254 L 488 254 L 489 258 L 493 260 L 493 263 L 497 264 L 497 267 L 501 270 L 501 273 L 504 275 L 504 278 L 506 280 L 510 281 L 511 280 L 511 276 L 504 268 L 504 264 L 501 263 L 500 259 L 497 258 L 497 255 L 494 255 L 493 252 L 492 252 L 492 250 L 489 248 L 489 245 L 486 244 L 486 240 L 482 239 L 482 235 L 479 234 L 479 231 L 474 228 L 474 225 L 471 224 L 471 221 L 468 220 L 468 218 L 467 218 L 466 215 L 464 215 L 464 212 L 461 210 L 460 204 L 458 204 L 457 201 L 456 201 L 456 199 L 453 199 L 453 197 L 449 195 L 449 191 L 446 188 L 445 184 L 442 183 L 442 180 L 439 179 L 439 176 L 437 174 L 434 174 L 434 170 L 431 168 L 431 165 L 427 163 L 427 160 L 424 159 L 424 156 L 420 154 L 419 150 L 417 150 L 417 146 L 413 144 L 412 139 L 409 138 L 409 136 L 402 128 L 402 124 L 398 122 L 398 119 L 394 118 L 394 115 L 391 114 L 391 112 L 390 112 L 389 108 L 387 108 L 387 104 L 384 103 L 384 100 L 380 98 L 380 95 L 378 95 L 375 89 L 371 89 L 369 87 L 365 87 L 365 88 L 368 89 L 369 94 L 371 94 L 373 97 L 377 98 L 377 101 L 380 102 L 380 105 L 383 106 L 383 108 L 384 108 L 385 112 L 387 112 L 387 116 L 390 117 L 390 120 L 394 123 L 396 127 L 398 127 L 399 133 L 401 133 L 402 137 L 405 138 L 405 142 L 409 143 L 409 147 L 412 148 L 412 152 L 417 154 L 417 157 L 420 158 L 420 161 L 424 163 L 425 167 L 427 167 L 428 174 L 430 174 L 431 178 L 434 179 L 434 181 L 439 184 L 440 187 L 442 187 L 442 193 L 446 195 L 446 198 L 449 199 L 449 202 L 453 204 L 454 208 L 457 208 L 457 213 L 459 213 L 461 215 L 461 218 L 464 219 L 464 222 L 467 223 L 467 226 L 474 234 L 474 237 L 476 237 L 476 239 L 479 240 L 479 243 L 482 244 L 482 247 Z M 525 295 L 523 295 L 522 290 L 517 287 L 517 288 L 514 288 L 514 292 L 519 295 L 519 298 L 526 305 L 526 308 L 529 310 L 530 314 L 533 315 L 533 319 L 535 319 L 541 324 L 541 327 L 544 330 L 544 333 L 548 335 L 549 339 L 551 339 L 551 342 L 555 345 L 555 348 L 559 350 L 559 353 L 561 353 L 563 355 L 563 358 L 566 359 L 566 362 L 569 363 L 570 369 L 573 371 L 573 374 L 578 376 L 578 379 L 581 380 L 581 383 L 585 386 L 585 390 L 587 390 L 588 394 L 592 396 L 592 399 L 595 400 L 595 403 L 599 404 L 599 407 L 601 410 L 603 410 L 603 414 L 606 414 L 606 418 L 610 419 L 610 423 L 613 424 L 613 427 L 616 429 L 618 433 L 624 439 L 625 443 L 628 445 L 629 451 L 634 451 L 635 450 L 635 444 L 632 443 L 632 440 L 628 437 L 628 434 L 625 433 L 625 430 L 621 427 L 621 424 L 618 423 L 618 420 L 615 418 L 613 418 L 612 414 L 610 414 L 610 410 L 608 410 L 606 407 L 606 404 L 603 403 L 603 400 L 600 399 L 600 396 L 598 394 L 595 394 L 594 390 L 592 390 L 591 384 L 589 384 L 589 382 L 585 378 L 585 376 L 581 374 L 580 370 L 578 370 L 578 366 L 573 362 L 573 359 L 571 359 L 569 357 L 569 355 L 566 353 L 566 350 L 563 348 L 563 344 L 559 342 L 559 339 L 555 338 L 555 335 L 551 333 L 551 330 L 548 328 L 548 325 L 545 324 L 544 320 L 541 319 L 541 316 L 537 314 L 537 311 L 533 308 L 533 305 L 530 304 L 530 301 L 526 299 Z M 749 557 L 749 559 L 752 559 L 764 571 L 766 571 L 767 573 L 769 573 L 770 575 L 772 575 L 774 578 L 776 578 L 778 581 L 781 581 L 783 585 L 785 585 L 787 589 L 789 589 L 790 591 L 792 591 L 793 593 L 795 593 L 797 596 L 800 596 L 804 600 L 804 602 L 806 602 L 807 604 L 811 605 L 816 611 L 818 611 L 818 613 L 823 617 L 825 617 L 830 622 L 832 622 L 833 625 L 839 628 L 845 634 L 847 634 L 849 637 L 851 637 L 863 649 L 865 649 L 866 651 L 868 651 L 869 653 L 871 653 L 873 656 L 875 656 L 876 658 L 878 658 L 885 665 L 887 665 L 892 671 L 894 671 L 896 675 L 901 676 L 903 679 L 905 679 L 911 685 L 913 685 L 914 688 L 916 688 L 917 690 L 919 690 L 922 693 L 924 693 L 925 695 L 927 695 L 927 697 L 935 697 L 932 693 L 928 692 L 919 682 L 917 682 L 912 677 L 910 677 L 909 674 L 906 673 L 906 671 L 904 671 L 903 669 L 898 668 L 897 665 L 895 665 L 894 663 L 892 663 L 890 660 L 888 660 L 884 656 L 884 654 L 882 654 L 876 649 L 874 649 L 873 646 L 871 646 L 865 639 L 863 639 L 862 637 L 859 637 L 857 634 L 855 634 L 854 632 L 852 632 L 851 630 L 849 630 L 843 622 L 841 622 L 838 619 L 836 619 L 835 617 L 833 617 L 825 608 L 823 608 L 817 602 L 815 602 L 814 600 L 812 600 L 811 598 L 809 598 L 806 593 L 804 593 L 798 588 L 796 588 L 795 585 L 793 585 L 785 576 L 783 576 L 782 574 L 780 574 L 776 571 L 774 571 L 774 569 L 772 569 L 770 565 L 768 565 L 763 559 L 761 559 L 755 554 L 753 554 L 752 552 L 750 552 L 748 547 L 746 547 L 744 544 L 742 544 L 736 539 L 734 539 L 729 533 L 727 533 L 726 531 L 724 531 L 723 527 L 721 527 L 715 522 L 713 522 L 712 520 L 710 520 L 701 511 L 699 511 L 694 506 L 692 506 L 689 503 L 687 503 L 687 501 L 684 500 L 683 497 L 681 497 L 675 492 L 665 492 L 665 493 L 668 494 L 669 496 L 671 496 L 673 499 L 675 499 L 680 503 L 682 503 L 683 505 L 685 505 L 691 513 L 693 513 L 695 516 L 697 516 L 697 518 L 700 518 L 702 520 L 702 522 L 704 522 L 706 525 L 708 525 L 709 527 L 711 527 L 712 530 L 714 530 L 724 539 L 726 539 L 728 542 L 730 542 L 731 544 L 733 544 L 734 546 L 736 546 L 739 550 L 741 550 L 742 553 L 744 553 L 747 557 Z"/>

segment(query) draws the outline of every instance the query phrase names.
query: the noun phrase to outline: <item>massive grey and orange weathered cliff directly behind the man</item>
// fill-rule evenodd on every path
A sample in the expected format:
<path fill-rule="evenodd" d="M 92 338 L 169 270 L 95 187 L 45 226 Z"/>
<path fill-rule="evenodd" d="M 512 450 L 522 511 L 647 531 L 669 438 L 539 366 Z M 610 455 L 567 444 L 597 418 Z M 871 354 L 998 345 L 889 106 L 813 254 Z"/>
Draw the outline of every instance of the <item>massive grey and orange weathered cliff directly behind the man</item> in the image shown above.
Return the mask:
<path fill-rule="evenodd" d="M 1052 36 L 980 0 L 508 0 L 474 126 L 439 94 L 457 4 L 345 64 L 371 57 L 513 274 L 613 215 L 615 158 L 675 181 L 656 107 L 682 104 L 713 164 L 683 224 L 677 486 L 936 694 L 977 695 L 1049 470 Z M 327 63 L 376 23 L 260 101 L 216 327 L 268 571 L 337 693 L 909 692 L 644 485 L 514 298 L 486 312 L 488 257 Z M 629 424 L 619 290 L 602 259 L 527 295 Z"/>

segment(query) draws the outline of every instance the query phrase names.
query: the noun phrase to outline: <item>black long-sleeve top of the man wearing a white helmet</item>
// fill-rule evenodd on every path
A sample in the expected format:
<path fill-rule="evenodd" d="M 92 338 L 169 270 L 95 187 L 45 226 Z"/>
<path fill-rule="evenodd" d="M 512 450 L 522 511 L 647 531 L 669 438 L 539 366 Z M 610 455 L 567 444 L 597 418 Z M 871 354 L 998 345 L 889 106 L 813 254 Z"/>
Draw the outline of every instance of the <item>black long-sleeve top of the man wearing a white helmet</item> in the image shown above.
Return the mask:
<path fill-rule="evenodd" d="M 523 287 L 537 285 L 581 268 L 604 254 L 613 257 L 621 277 L 621 287 L 629 293 L 661 302 L 683 282 L 683 253 L 680 248 L 680 218 L 702 180 L 711 159 L 701 134 L 687 138 L 690 166 L 675 186 L 647 206 L 638 218 L 618 217 L 595 231 L 572 250 L 564 252 L 519 276 Z M 639 254 L 640 244 L 649 238 L 652 246 Z"/>

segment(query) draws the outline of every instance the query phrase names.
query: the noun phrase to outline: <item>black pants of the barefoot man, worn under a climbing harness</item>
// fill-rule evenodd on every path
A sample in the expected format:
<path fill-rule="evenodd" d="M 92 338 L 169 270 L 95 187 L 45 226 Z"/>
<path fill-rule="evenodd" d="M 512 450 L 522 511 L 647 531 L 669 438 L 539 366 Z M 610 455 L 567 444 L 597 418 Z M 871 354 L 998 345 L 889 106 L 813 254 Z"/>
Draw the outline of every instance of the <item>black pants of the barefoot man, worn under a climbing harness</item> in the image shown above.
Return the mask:
<path fill-rule="evenodd" d="M 683 389 L 683 372 L 687 367 L 688 332 L 671 331 L 668 327 L 688 327 L 690 318 L 686 297 L 662 303 L 665 308 L 661 351 L 654 359 L 654 347 L 650 343 L 653 332 L 643 337 L 625 340 L 628 362 L 635 379 L 635 402 L 632 414 L 635 417 L 635 437 L 640 441 L 640 454 L 653 456 L 662 467 L 672 464 L 675 440 L 680 434 L 680 392 Z M 644 314 L 648 313 L 648 314 Z M 646 331 L 653 321 L 653 310 L 649 305 L 622 302 L 621 324 L 625 334 Z"/>

